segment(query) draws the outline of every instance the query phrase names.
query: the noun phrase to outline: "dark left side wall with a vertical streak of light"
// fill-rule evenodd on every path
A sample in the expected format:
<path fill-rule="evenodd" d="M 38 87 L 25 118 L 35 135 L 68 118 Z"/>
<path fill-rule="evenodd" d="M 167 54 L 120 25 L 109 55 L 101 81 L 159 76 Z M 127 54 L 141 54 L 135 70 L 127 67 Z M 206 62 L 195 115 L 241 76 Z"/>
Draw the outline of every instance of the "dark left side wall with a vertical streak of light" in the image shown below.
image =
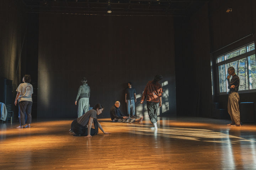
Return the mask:
<path fill-rule="evenodd" d="M 17 107 L 14 106 L 16 88 L 22 81 L 22 75 L 26 71 L 23 63 L 26 63 L 26 48 L 22 44 L 26 41 L 27 15 L 22 1 L 0 1 L 0 77 L 12 80 L 12 110 L 14 120 L 17 120 Z M 20 62 L 19 62 L 20 60 Z M 1 89 L 2 90 L 2 89 Z M 0 101 L 3 102 L 3 101 Z"/>

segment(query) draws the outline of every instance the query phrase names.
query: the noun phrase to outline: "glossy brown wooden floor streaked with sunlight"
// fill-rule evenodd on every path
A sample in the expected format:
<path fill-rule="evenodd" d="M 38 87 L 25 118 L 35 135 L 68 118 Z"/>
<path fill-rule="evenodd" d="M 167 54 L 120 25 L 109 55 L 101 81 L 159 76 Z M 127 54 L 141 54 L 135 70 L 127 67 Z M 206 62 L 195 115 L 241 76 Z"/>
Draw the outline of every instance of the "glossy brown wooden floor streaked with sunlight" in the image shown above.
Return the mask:
<path fill-rule="evenodd" d="M 140 123 L 100 119 L 105 131 L 74 137 L 72 120 L 37 120 L 31 128 L 0 124 L 0 169 L 256 169 L 256 125 L 229 121 L 159 117 L 158 131 Z"/>

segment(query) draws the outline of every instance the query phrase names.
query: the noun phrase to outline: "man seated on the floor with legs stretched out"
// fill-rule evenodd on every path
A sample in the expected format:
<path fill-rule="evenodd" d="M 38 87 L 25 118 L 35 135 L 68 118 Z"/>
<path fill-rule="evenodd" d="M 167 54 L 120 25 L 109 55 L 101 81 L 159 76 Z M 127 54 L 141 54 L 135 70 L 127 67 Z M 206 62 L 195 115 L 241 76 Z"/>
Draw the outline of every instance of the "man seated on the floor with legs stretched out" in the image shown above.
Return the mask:
<path fill-rule="evenodd" d="M 112 122 L 123 122 L 123 123 L 133 123 L 133 122 L 140 122 L 143 117 L 139 119 L 132 119 L 128 116 L 124 116 L 120 110 L 120 102 L 116 101 L 116 103 L 110 109 L 110 116 Z"/>

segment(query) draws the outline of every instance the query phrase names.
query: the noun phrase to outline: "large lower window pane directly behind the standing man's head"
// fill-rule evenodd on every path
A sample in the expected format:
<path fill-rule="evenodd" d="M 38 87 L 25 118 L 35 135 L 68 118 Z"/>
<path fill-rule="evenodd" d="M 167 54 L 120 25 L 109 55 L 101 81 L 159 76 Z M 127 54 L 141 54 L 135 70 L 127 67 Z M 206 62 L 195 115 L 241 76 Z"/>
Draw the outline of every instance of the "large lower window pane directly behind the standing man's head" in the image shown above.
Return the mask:
<path fill-rule="evenodd" d="M 227 64 L 227 68 L 229 67 L 234 67 L 236 75 L 238 75 L 240 78 L 239 90 L 249 90 L 247 59 L 244 58 L 238 61 L 230 62 Z"/>

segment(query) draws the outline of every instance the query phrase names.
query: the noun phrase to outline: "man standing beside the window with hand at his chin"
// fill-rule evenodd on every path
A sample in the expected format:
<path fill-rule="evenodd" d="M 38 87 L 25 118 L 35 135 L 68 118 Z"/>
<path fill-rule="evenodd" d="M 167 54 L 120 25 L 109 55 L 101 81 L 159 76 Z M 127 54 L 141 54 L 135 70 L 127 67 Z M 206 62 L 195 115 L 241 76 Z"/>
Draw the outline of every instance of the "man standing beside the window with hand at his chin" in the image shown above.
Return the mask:
<path fill-rule="evenodd" d="M 235 68 L 228 68 L 228 88 L 229 88 L 229 99 L 228 99 L 228 113 L 231 118 L 230 126 L 241 126 L 240 124 L 240 111 L 239 111 L 239 94 L 238 89 L 240 85 L 240 79 L 235 74 Z M 229 80 L 232 76 L 231 81 Z"/>

